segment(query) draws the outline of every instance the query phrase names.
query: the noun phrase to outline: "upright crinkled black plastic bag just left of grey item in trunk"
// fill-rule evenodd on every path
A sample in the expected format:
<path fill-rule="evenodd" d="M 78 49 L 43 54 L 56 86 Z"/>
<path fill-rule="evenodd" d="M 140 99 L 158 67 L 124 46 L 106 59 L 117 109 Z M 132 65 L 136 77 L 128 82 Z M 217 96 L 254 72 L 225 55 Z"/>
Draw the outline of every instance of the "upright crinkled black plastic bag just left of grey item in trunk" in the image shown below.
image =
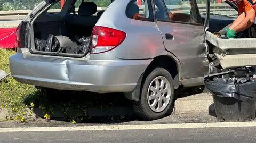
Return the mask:
<path fill-rule="evenodd" d="M 59 47 L 60 47 L 59 40 L 53 34 L 50 34 L 47 39 L 45 51 L 46 52 L 57 52 Z"/>

